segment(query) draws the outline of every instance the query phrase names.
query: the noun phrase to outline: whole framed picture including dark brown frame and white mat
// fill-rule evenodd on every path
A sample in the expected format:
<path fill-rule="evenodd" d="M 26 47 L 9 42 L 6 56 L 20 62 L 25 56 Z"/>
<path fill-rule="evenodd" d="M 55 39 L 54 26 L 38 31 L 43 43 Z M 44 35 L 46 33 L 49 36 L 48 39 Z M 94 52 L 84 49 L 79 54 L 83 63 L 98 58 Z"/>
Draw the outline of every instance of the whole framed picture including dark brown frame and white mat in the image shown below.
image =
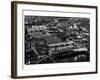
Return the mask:
<path fill-rule="evenodd" d="M 13 78 L 97 73 L 97 6 L 12 2 Z"/>

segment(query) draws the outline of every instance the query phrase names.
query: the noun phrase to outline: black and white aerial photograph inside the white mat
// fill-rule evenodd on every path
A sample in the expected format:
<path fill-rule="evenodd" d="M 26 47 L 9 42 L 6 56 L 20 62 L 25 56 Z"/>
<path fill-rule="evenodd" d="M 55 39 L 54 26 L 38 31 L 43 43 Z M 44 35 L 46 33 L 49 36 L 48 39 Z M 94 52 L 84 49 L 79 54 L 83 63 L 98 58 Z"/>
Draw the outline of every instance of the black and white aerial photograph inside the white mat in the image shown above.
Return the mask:
<path fill-rule="evenodd" d="M 90 18 L 24 16 L 26 65 L 90 61 Z"/>

